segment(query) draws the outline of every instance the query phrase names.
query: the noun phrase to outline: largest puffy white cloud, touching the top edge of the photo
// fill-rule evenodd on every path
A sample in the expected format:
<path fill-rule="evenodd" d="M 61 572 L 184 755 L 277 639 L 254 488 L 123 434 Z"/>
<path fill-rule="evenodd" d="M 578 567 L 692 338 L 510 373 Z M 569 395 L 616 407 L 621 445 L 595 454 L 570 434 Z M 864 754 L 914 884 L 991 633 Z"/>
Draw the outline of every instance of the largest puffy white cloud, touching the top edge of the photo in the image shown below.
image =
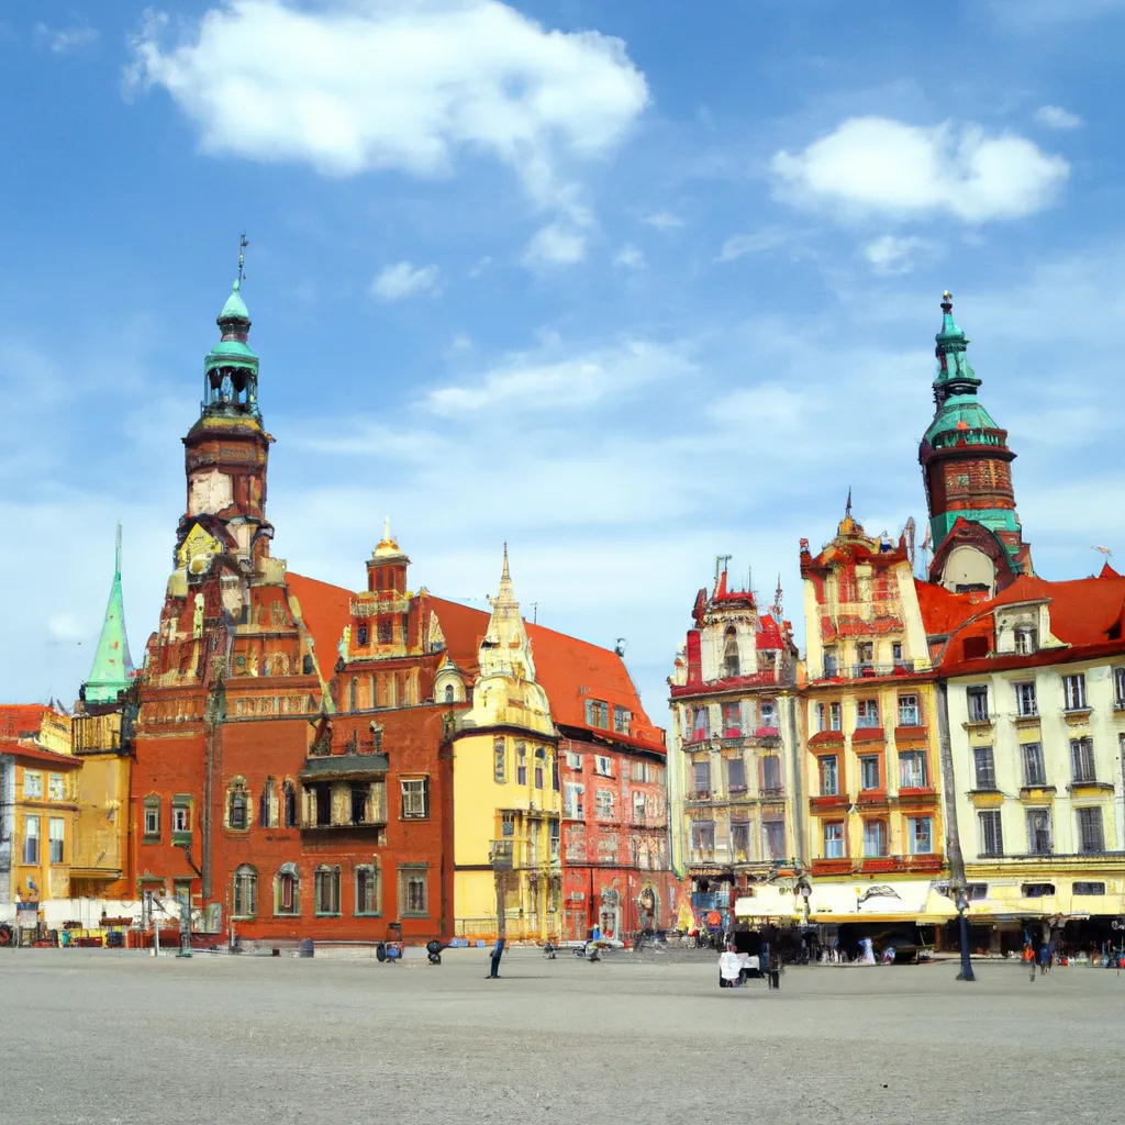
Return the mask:
<path fill-rule="evenodd" d="M 442 176 L 483 151 L 569 212 L 559 162 L 613 148 L 648 102 L 620 39 L 548 30 L 498 0 L 225 0 L 180 42 L 171 26 L 147 14 L 129 86 L 163 87 L 205 152 L 331 176 Z"/>

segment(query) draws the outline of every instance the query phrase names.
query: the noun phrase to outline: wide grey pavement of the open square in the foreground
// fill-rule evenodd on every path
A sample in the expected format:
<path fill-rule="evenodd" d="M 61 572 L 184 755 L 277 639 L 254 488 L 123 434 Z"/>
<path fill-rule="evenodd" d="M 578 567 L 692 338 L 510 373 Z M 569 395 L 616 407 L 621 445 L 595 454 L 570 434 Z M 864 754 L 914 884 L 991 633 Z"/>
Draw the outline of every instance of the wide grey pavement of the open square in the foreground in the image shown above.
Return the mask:
<path fill-rule="evenodd" d="M 714 957 L 444 963 L 0 951 L 12 1123 L 1120 1120 L 1125 980 Z"/>

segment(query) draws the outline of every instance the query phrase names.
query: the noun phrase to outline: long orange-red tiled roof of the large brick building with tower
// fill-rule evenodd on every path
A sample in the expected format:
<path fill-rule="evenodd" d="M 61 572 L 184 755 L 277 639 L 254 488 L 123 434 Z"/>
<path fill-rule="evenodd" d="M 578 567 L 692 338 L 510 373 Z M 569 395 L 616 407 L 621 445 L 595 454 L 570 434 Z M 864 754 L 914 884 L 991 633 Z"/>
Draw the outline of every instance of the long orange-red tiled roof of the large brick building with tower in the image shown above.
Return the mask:
<path fill-rule="evenodd" d="M 321 674 L 331 676 L 336 646 L 351 620 L 351 602 L 356 595 L 341 586 L 292 572 L 286 575 L 286 584 L 289 592 L 297 595 L 302 619 L 313 634 Z M 429 604 L 438 613 L 450 659 L 469 676 L 476 675 L 477 654 L 488 627 L 488 614 L 441 597 L 430 596 Z M 524 624 L 531 638 L 538 680 L 547 692 L 557 722 L 646 749 L 664 750 L 663 731 L 645 713 L 637 687 L 616 652 L 544 626 Z M 587 726 L 587 699 L 604 700 L 611 708 L 619 705 L 630 711 L 630 737 Z"/>

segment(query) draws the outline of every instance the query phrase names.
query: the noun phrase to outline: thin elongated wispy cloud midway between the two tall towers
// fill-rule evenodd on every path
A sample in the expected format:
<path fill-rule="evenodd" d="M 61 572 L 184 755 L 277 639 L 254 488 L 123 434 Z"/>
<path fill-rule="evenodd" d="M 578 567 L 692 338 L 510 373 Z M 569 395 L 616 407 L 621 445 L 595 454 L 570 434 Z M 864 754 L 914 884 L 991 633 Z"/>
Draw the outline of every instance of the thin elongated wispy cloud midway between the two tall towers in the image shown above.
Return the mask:
<path fill-rule="evenodd" d="M 431 390 L 424 405 L 439 415 L 492 407 L 502 408 L 505 415 L 514 411 L 575 410 L 692 371 L 694 364 L 682 346 L 631 340 L 561 359 L 514 356 L 465 385 Z"/>

